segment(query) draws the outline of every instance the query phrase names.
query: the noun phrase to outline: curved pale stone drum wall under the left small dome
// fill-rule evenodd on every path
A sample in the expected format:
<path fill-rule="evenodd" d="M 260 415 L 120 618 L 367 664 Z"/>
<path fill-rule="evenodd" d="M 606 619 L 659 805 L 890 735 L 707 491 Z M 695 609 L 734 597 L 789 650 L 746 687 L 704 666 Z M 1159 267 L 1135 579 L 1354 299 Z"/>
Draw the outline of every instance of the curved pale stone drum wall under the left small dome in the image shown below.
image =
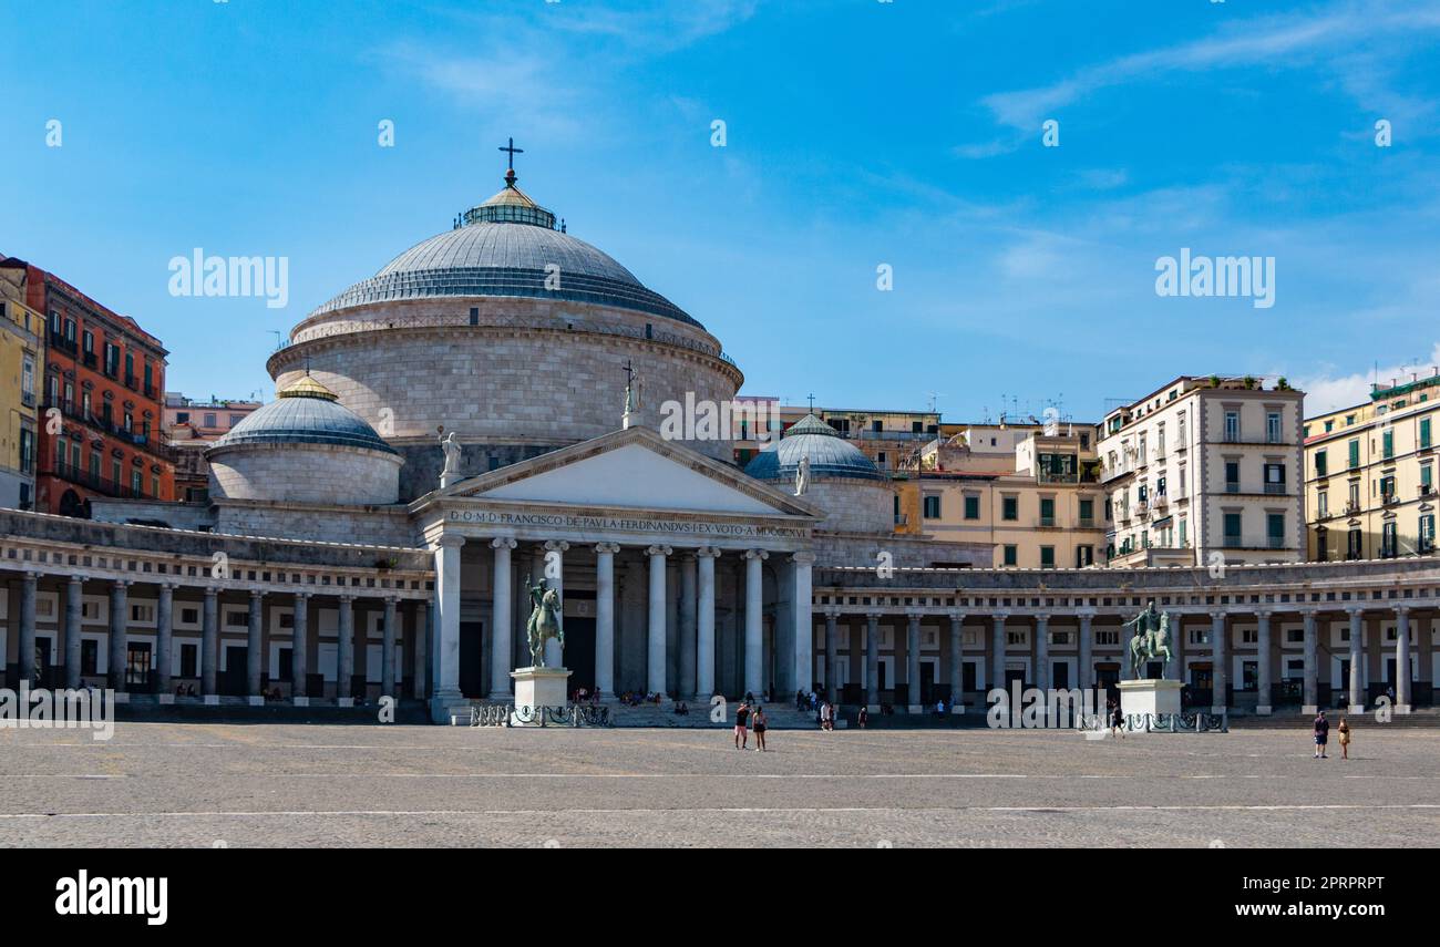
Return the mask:
<path fill-rule="evenodd" d="M 212 450 L 209 459 L 212 501 L 383 505 L 396 502 L 400 492 L 402 459 L 379 450 L 236 445 Z"/>

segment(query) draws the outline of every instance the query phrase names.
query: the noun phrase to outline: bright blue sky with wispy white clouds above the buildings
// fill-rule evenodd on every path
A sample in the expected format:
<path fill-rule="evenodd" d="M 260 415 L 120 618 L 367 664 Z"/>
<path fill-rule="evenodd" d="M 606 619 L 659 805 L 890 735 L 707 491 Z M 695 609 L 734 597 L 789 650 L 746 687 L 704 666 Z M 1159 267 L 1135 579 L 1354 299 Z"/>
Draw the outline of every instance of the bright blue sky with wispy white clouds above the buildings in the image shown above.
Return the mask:
<path fill-rule="evenodd" d="M 0 58 L 0 252 L 135 317 L 192 396 L 268 399 L 274 331 L 494 193 L 508 135 L 521 187 L 704 322 L 752 394 L 1099 419 L 1251 373 L 1313 413 L 1440 361 L 1436 3 L 0 12 L 46 37 Z M 197 246 L 287 256 L 288 307 L 173 298 Z M 1273 256 L 1274 305 L 1158 296 L 1181 248 Z"/>

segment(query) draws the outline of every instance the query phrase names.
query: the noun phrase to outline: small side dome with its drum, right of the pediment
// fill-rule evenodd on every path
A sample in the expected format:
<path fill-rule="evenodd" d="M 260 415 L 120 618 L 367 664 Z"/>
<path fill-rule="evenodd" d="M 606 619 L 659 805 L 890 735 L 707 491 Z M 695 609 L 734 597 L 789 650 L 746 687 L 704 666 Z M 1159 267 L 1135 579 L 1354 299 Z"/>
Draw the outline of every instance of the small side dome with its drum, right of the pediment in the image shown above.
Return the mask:
<path fill-rule="evenodd" d="M 809 458 L 805 499 L 825 511 L 824 528 L 867 535 L 894 533 L 894 488 L 874 462 L 815 414 L 806 414 L 780 442 L 746 465 L 759 481 L 795 482 Z"/>

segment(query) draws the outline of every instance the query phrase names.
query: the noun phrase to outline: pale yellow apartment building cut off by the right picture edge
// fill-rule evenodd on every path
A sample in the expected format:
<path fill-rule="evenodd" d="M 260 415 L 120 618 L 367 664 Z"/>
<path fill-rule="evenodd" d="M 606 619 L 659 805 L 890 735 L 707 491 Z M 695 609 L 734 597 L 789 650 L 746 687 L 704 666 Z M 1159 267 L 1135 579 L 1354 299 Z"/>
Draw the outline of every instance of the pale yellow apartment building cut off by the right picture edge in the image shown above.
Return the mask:
<path fill-rule="evenodd" d="M 1305 422 L 1310 560 L 1434 554 L 1437 429 L 1440 373 Z"/>

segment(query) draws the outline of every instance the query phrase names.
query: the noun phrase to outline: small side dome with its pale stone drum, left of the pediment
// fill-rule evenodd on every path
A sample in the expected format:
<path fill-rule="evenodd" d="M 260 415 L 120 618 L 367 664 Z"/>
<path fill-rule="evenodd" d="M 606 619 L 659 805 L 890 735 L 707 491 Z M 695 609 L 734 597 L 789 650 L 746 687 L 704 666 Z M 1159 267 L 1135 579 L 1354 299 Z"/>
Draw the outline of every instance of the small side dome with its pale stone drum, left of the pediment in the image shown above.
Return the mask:
<path fill-rule="evenodd" d="M 405 461 L 308 374 L 204 452 L 210 497 L 330 505 L 399 499 Z"/>

